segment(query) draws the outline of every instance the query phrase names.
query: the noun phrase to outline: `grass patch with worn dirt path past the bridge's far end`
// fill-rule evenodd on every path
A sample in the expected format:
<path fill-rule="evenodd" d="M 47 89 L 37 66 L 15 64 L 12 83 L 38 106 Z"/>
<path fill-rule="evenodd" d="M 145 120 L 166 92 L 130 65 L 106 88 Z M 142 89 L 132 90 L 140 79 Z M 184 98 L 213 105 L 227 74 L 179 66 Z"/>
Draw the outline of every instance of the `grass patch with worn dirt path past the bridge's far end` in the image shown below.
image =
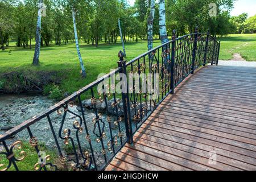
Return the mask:
<path fill-rule="evenodd" d="M 220 60 L 231 60 L 233 53 L 240 53 L 247 61 L 256 61 L 256 34 L 232 34 L 221 41 Z"/>

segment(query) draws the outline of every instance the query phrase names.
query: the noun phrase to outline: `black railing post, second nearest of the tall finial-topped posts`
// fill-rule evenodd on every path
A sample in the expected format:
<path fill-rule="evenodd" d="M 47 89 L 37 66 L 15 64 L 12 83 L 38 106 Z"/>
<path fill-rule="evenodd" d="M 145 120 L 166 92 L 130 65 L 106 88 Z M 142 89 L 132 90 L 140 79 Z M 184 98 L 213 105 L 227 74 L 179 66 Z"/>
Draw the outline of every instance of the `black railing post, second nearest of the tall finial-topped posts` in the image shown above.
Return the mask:
<path fill-rule="evenodd" d="M 171 72 L 171 93 L 173 94 L 174 93 L 174 64 L 175 64 L 175 50 L 176 50 L 176 30 L 172 31 L 172 40 L 174 40 L 172 42 L 172 46 L 171 46 L 171 69 L 170 72 Z"/>

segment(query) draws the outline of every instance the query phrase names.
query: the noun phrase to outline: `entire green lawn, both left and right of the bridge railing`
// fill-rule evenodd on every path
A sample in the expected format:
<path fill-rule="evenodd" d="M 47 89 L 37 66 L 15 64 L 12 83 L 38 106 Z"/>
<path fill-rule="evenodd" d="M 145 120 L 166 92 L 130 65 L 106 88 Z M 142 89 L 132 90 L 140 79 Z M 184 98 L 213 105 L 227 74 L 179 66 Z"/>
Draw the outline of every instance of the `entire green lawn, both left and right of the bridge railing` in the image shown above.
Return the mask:
<path fill-rule="evenodd" d="M 256 34 L 230 35 L 220 38 L 220 60 L 232 59 L 233 53 L 241 53 L 248 61 L 256 61 Z M 155 40 L 154 47 L 160 44 Z M 10 52 L 11 49 L 11 52 Z M 5 51 L 0 51 L 0 73 L 10 71 L 59 71 L 61 72 L 60 89 L 63 92 L 73 93 L 90 82 L 96 80 L 99 73 L 108 73 L 110 69 L 117 68 L 121 43 L 103 44 L 98 48 L 80 44 L 82 59 L 84 60 L 87 77 L 81 78 L 80 64 L 77 57 L 75 44 L 66 46 L 42 47 L 40 53 L 40 65 L 32 66 L 34 49 L 17 48 L 15 42 Z M 137 57 L 147 51 L 147 42 L 127 42 L 127 60 Z"/>

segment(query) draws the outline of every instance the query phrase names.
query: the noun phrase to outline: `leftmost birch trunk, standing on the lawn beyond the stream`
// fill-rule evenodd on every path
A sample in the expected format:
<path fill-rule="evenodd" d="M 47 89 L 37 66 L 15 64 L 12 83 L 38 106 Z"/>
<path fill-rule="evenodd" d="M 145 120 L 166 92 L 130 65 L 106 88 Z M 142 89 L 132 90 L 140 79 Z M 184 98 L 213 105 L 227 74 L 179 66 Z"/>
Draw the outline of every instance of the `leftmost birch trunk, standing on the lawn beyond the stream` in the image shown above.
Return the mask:
<path fill-rule="evenodd" d="M 42 0 L 39 0 L 39 3 L 42 3 Z M 36 24 L 36 44 L 35 44 L 35 53 L 34 53 L 34 59 L 33 64 L 38 65 L 39 64 L 39 55 L 40 55 L 40 45 L 41 45 L 41 12 L 40 8 L 38 10 L 38 22 Z"/>

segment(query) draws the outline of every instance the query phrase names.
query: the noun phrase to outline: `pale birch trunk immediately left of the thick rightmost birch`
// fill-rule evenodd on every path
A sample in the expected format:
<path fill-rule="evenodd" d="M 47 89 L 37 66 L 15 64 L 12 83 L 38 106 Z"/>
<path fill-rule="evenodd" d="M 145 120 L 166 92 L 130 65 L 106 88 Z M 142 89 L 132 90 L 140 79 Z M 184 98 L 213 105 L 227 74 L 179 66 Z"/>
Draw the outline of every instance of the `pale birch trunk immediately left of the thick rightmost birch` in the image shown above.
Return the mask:
<path fill-rule="evenodd" d="M 150 16 L 147 19 L 147 49 L 153 48 L 153 23 L 155 18 L 155 0 L 151 0 Z"/>

